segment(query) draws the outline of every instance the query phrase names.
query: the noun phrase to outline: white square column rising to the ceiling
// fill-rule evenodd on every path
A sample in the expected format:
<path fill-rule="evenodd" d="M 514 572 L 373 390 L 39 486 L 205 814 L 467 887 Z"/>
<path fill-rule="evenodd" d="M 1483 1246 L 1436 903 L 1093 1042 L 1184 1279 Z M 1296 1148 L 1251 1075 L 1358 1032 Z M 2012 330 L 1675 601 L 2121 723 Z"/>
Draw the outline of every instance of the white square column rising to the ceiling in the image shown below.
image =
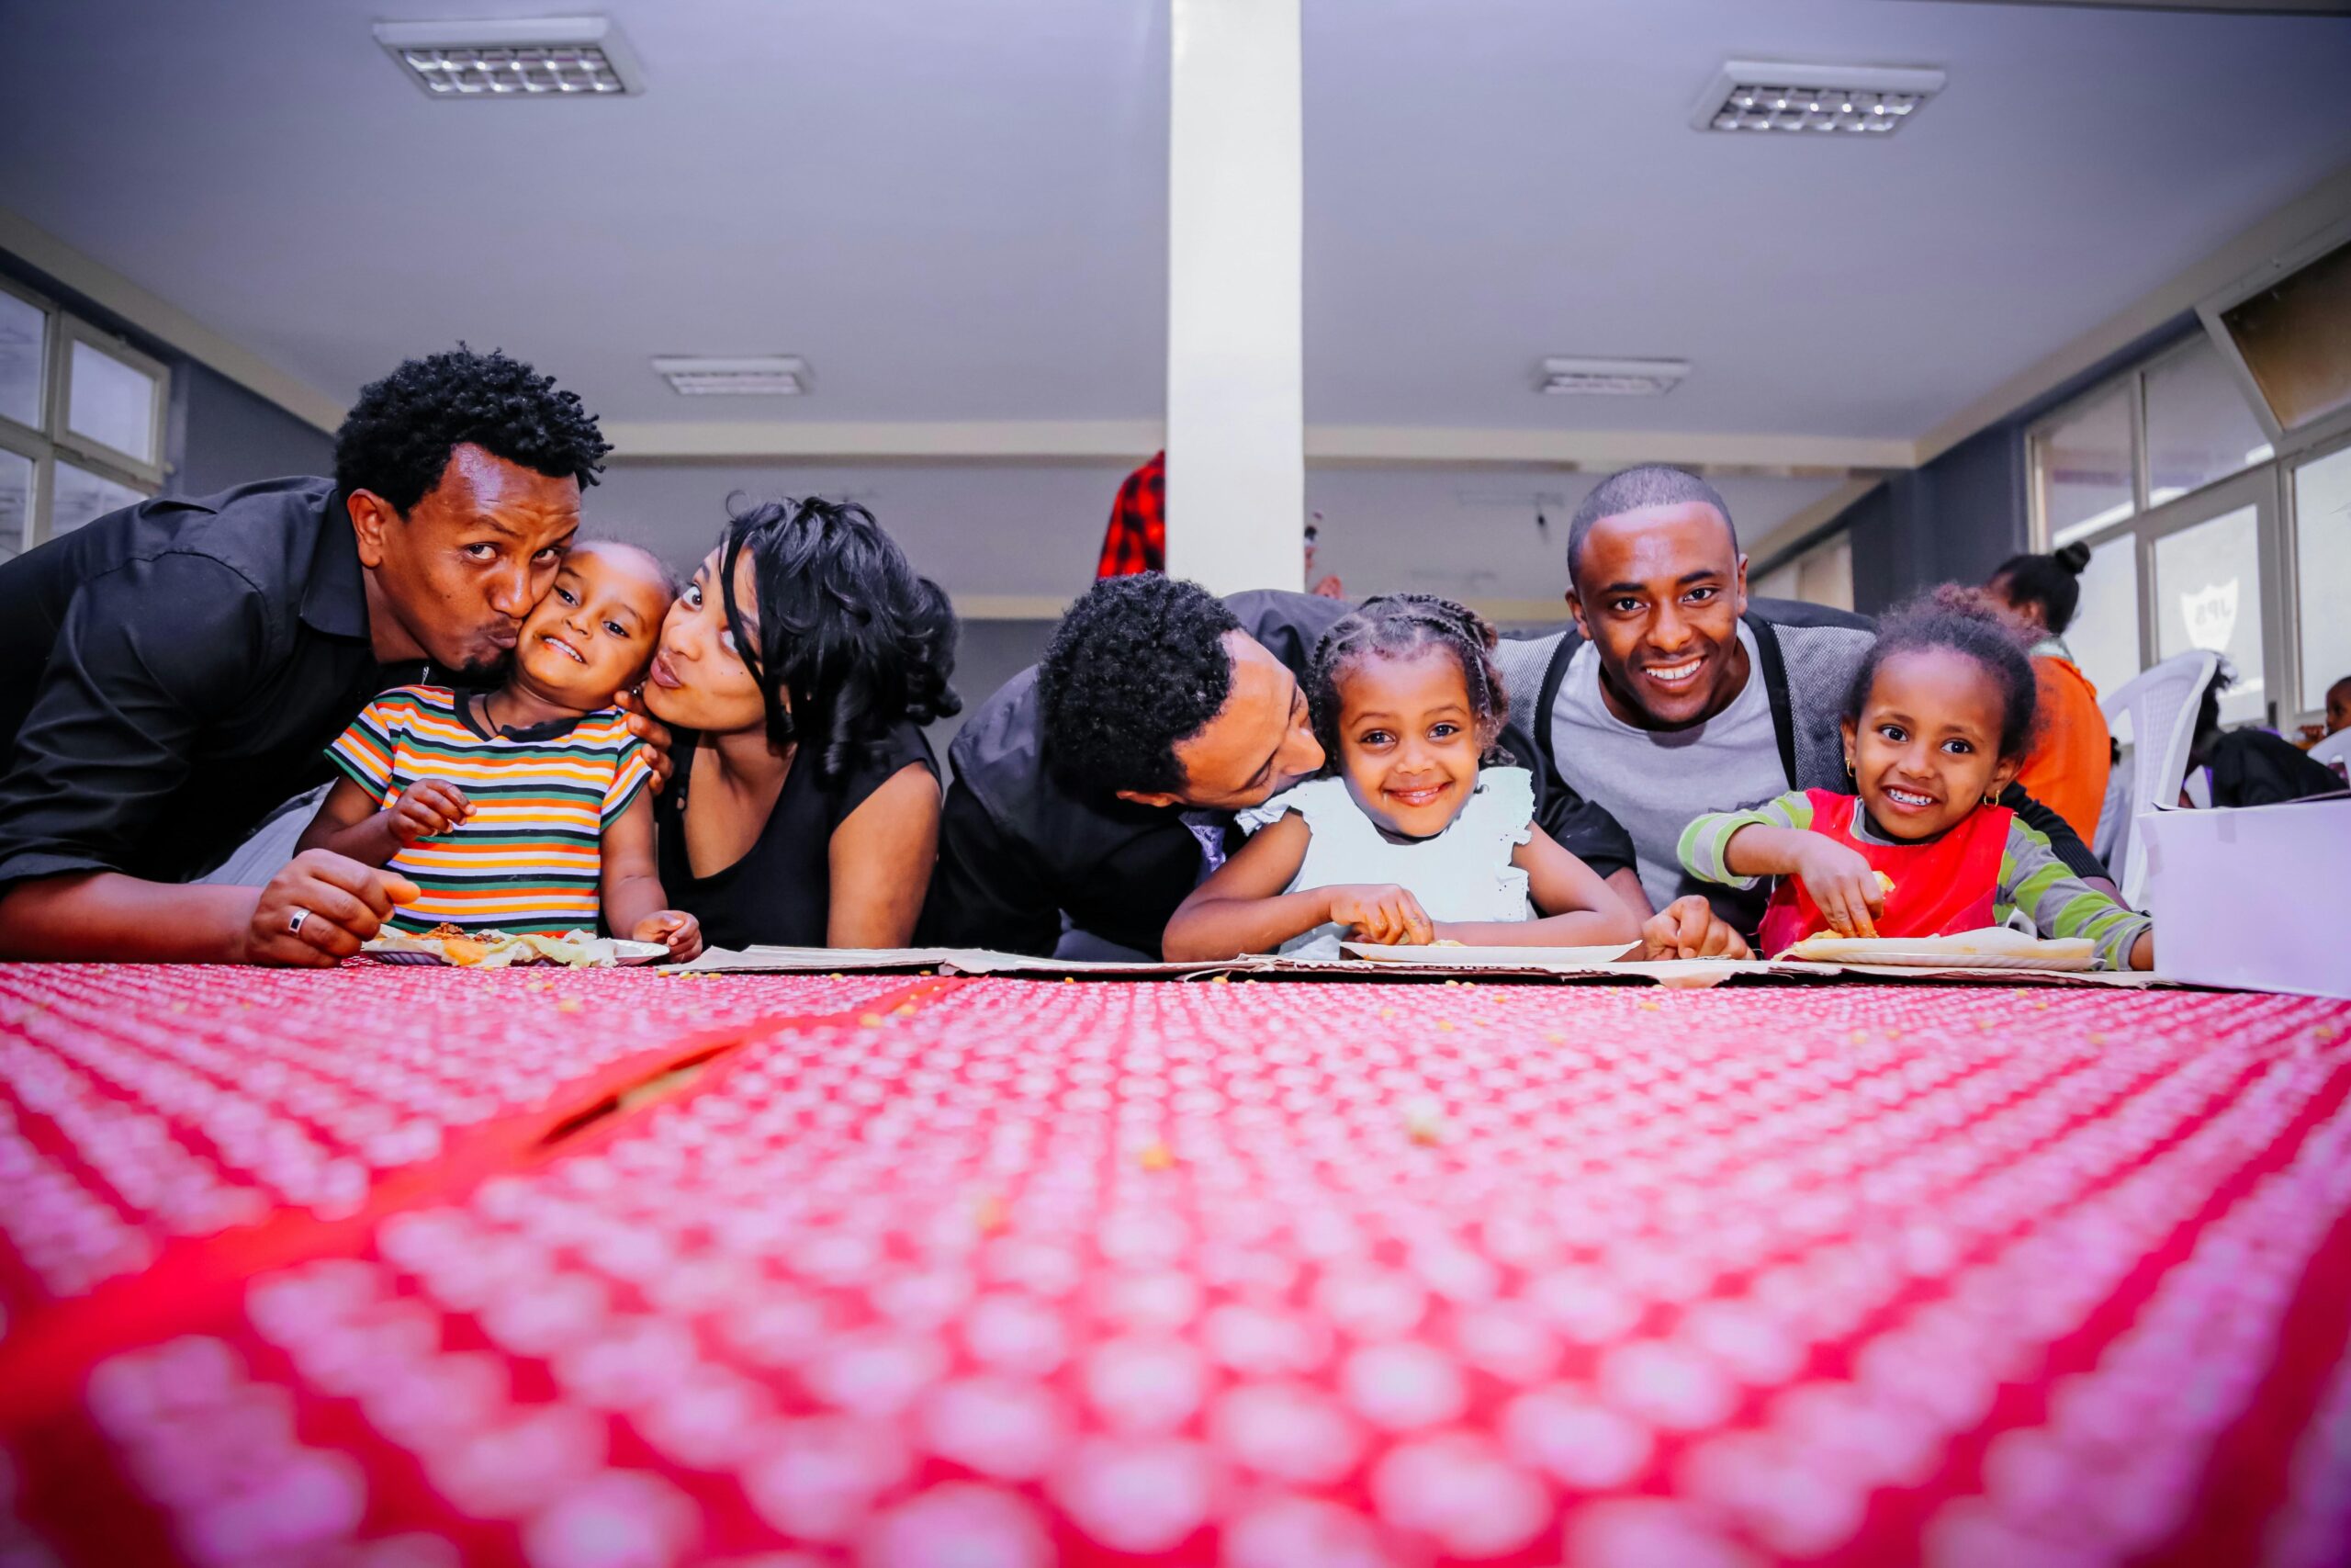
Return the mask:
<path fill-rule="evenodd" d="M 1300 0 L 1171 0 L 1168 574 L 1305 585 Z"/>

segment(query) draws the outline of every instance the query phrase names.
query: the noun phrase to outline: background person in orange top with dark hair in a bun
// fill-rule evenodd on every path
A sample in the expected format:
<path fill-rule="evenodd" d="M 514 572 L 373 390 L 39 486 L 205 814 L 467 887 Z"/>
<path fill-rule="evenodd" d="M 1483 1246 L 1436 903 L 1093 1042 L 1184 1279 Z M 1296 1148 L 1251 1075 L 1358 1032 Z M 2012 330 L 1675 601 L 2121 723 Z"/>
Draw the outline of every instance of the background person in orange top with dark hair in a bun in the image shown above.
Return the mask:
<path fill-rule="evenodd" d="M 2097 837 L 2097 811 L 2106 804 L 2106 771 L 2114 738 L 2097 708 L 2097 686 L 2074 663 L 2062 637 L 2081 604 L 2081 569 L 2090 545 L 2074 541 L 2055 555 L 2010 555 L 1987 583 L 1991 602 L 2034 644 L 2034 679 L 2041 686 L 2041 729 L 2017 783 L 2064 818 L 2088 844 Z"/>

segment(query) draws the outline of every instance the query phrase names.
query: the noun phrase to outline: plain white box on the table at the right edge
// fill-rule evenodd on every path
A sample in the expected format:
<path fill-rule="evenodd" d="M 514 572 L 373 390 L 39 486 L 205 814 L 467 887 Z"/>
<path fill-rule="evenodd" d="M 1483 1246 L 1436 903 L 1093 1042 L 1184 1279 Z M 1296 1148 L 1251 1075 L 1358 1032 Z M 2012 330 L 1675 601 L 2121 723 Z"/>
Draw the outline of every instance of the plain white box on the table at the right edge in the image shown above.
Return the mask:
<path fill-rule="evenodd" d="M 2351 997 L 2351 799 L 2151 811 L 2137 832 L 2158 976 Z"/>

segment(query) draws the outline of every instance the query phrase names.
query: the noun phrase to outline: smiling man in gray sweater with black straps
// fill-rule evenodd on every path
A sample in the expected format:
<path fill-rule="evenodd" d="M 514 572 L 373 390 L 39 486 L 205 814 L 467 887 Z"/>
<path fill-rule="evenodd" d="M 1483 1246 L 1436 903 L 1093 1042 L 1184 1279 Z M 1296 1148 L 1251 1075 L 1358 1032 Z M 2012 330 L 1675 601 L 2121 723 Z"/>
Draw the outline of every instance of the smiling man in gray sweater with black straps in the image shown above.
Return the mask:
<path fill-rule="evenodd" d="M 1498 649 L 1545 811 L 1592 802 L 1615 816 L 1636 867 L 1610 884 L 1636 907 L 1697 893 L 1754 933 L 1768 886 L 1688 877 L 1681 830 L 1702 811 L 1850 788 L 1838 717 L 1876 632 L 1817 604 L 1749 602 L 1730 508 L 1665 465 L 1615 473 L 1575 508 L 1568 611 L 1573 630 Z M 2012 785 L 2001 804 L 2045 832 L 2076 875 L 2111 889 L 2055 811 Z"/>

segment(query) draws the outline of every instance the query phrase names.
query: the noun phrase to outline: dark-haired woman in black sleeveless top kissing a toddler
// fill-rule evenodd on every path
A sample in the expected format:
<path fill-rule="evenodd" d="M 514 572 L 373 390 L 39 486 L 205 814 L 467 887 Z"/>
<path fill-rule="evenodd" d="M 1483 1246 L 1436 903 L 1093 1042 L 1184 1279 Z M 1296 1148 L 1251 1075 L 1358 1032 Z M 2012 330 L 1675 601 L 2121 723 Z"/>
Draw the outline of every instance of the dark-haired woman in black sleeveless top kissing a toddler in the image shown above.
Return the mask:
<path fill-rule="evenodd" d="M 955 611 L 863 505 L 738 512 L 661 625 L 647 710 L 677 731 L 661 882 L 715 947 L 903 947 L 962 710 Z"/>

